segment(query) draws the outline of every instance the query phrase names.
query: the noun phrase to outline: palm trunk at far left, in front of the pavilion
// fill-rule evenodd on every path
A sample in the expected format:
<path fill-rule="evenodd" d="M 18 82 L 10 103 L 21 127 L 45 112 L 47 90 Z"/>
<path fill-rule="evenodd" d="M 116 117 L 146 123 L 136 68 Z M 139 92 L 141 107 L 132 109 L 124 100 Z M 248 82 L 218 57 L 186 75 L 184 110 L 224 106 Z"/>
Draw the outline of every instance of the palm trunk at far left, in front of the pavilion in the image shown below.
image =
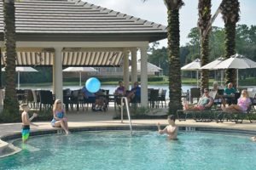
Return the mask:
<path fill-rule="evenodd" d="M 19 119 L 19 103 L 15 90 L 15 0 L 3 1 L 4 44 L 6 48 L 5 71 L 6 88 L 3 101 L 3 119 L 5 122 L 14 122 Z"/>

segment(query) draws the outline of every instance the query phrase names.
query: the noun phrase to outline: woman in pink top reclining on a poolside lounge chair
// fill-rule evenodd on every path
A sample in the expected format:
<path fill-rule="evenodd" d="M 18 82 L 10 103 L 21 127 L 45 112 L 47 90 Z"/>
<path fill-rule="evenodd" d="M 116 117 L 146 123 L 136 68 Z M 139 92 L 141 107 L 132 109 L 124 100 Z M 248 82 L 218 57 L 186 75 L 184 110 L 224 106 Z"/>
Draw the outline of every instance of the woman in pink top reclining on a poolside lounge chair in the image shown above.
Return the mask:
<path fill-rule="evenodd" d="M 222 107 L 223 111 L 247 111 L 249 106 L 251 105 L 251 99 L 249 98 L 249 94 L 247 90 L 241 91 L 241 96 L 237 99 L 237 105 L 230 105 L 226 108 Z"/>

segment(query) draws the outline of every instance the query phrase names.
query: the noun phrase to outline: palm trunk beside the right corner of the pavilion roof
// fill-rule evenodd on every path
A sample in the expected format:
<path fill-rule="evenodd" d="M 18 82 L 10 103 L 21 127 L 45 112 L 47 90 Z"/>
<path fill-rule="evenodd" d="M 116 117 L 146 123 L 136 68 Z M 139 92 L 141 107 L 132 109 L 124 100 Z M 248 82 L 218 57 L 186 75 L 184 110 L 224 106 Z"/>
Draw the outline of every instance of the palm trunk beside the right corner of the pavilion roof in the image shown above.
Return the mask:
<path fill-rule="evenodd" d="M 176 114 L 181 104 L 181 70 L 179 57 L 179 9 L 184 5 L 182 0 L 164 0 L 168 14 L 167 56 L 169 61 L 169 114 Z"/>

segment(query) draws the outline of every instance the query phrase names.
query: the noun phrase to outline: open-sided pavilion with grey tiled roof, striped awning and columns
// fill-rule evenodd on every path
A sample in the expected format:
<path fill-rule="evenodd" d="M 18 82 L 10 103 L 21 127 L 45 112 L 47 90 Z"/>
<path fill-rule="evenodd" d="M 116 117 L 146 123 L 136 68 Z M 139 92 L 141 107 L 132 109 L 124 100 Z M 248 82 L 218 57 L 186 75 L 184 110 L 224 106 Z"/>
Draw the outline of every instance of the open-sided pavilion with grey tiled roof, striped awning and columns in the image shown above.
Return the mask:
<path fill-rule="evenodd" d="M 3 1 L 0 2 L 1 49 Z M 137 81 L 137 51 L 141 54 L 142 106 L 148 106 L 147 49 L 167 37 L 166 26 L 80 0 L 15 2 L 17 66 L 53 66 L 53 94 L 63 99 L 62 66 L 123 65 L 125 87 Z M 2 58 L 2 63 L 3 63 Z"/>

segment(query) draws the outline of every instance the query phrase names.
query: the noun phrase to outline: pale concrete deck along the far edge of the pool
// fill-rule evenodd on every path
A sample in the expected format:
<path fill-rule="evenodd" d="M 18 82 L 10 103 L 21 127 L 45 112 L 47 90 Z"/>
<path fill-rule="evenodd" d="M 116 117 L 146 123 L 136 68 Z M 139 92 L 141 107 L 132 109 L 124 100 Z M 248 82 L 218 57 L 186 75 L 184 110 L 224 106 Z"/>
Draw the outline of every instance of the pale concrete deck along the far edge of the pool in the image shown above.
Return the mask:
<path fill-rule="evenodd" d="M 79 127 L 129 127 L 128 120 L 124 119 L 124 123 L 120 120 L 113 120 L 113 116 L 116 112 L 113 108 L 110 108 L 107 112 L 101 111 L 70 111 L 67 113 L 68 126 L 72 130 L 73 128 Z M 136 119 L 131 120 L 133 127 L 154 127 L 157 129 L 156 123 L 160 122 L 161 125 L 166 125 L 166 119 Z M 31 126 L 31 131 L 44 131 L 44 130 L 55 130 L 50 125 L 50 122 L 35 122 L 38 127 Z M 195 122 L 194 120 L 187 120 L 183 122 L 176 121 L 179 127 L 208 127 L 208 128 L 219 128 L 219 129 L 230 129 L 238 131 L 248 131 L 256 133 L 256 121 L 249 122 L 244 120 L 242 123 L 235 122 Z M 0 124 L 0 139 L 4 136 L 20 133 L 21 123 L 3 123 Z M 3 141 L 0 141 L 0 146 Z"/>

